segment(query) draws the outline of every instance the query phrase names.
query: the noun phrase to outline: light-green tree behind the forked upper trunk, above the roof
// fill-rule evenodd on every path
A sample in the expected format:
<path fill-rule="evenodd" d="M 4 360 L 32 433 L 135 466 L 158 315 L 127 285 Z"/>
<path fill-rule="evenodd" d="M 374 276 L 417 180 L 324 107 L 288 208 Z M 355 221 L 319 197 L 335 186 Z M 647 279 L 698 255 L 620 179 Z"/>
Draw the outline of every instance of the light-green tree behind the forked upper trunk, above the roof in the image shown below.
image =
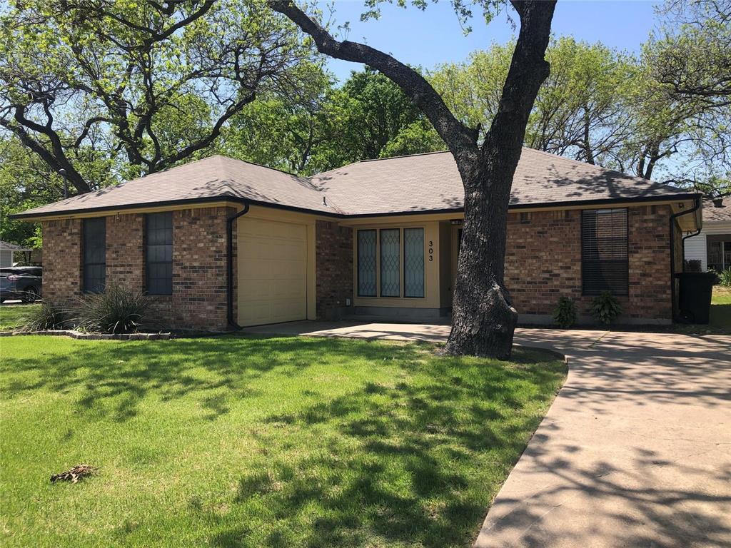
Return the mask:
<path fill-rule="evenodd" d="M 452 112 L 470 126 L 489 127 L 499 105 L 514 44 L 493 44 L 464 64 L 439 66 L 430 81 Z M 546 51 L 550 75 L 541 85 L 526 128 L 526 146 L 601 164 L 621 145 L 631 61 L 601 44 L 564 37 Z"/>

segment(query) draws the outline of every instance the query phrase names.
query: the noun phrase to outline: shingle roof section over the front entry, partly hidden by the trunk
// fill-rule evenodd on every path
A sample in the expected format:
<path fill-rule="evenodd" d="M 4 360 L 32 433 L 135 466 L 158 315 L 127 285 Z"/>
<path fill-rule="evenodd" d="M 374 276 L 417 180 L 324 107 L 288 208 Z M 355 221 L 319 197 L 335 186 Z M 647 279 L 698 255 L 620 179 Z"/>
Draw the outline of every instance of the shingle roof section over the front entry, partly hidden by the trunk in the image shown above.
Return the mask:
<path fill-rule="evenodd" d="M 449 152 L 360 161 L 311 178 L 349 213 L 462 208 L 464 191 Z M 672 186 L 523 148 L 512 183 L 513 207 L 687 194 Z"/>

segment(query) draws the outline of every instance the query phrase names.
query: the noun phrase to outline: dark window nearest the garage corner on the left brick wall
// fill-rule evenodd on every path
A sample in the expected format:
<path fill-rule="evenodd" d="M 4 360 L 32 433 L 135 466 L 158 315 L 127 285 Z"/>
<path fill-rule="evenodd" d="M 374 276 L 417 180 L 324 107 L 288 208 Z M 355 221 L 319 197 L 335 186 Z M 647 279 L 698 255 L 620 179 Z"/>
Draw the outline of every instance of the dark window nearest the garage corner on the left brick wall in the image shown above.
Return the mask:
<path fill-rule="evenodd" d="M 145 216 L 145 278 L 148 294 L 173 294 L 172 212 Z"/>

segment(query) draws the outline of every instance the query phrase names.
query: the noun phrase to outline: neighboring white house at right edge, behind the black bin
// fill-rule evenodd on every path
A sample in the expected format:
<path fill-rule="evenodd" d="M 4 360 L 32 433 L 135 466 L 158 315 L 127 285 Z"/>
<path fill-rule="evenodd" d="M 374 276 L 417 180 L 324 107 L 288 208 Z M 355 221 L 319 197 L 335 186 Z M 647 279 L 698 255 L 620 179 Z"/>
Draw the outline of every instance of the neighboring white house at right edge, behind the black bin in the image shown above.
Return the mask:
<path fill-rule="evenodd" d="M 685 259 L 699 259 L 704 272 L 731 268 L 731 199 L 703 200 L 703 229 L 685 240 Z"/>

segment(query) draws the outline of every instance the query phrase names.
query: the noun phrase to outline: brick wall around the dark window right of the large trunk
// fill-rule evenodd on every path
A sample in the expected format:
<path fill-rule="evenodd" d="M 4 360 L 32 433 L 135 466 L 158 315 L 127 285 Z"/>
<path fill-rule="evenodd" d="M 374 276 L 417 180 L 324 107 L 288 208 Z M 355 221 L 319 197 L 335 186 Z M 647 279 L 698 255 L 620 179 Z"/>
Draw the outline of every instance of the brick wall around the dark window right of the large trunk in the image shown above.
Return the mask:
<path fill-rule="evenodd" d="M 668 206 L 629 208 L 629 296 L 618 297 L 625 318 L 669 320 Z M 552 314 L 569 297 L 580 315 L 594 297 L 581 294 L 581 212 L 510 213 L 505 283 L 521 314 Z"/>

